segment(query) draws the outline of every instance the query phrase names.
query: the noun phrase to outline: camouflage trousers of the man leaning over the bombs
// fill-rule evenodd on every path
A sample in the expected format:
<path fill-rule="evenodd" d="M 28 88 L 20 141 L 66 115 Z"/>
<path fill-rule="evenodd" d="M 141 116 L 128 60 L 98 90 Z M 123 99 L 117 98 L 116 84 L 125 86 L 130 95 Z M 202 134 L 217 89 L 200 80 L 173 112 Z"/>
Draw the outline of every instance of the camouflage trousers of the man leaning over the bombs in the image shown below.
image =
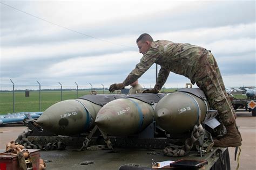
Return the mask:
<path fill-rule="evenodd" d="M 197 81 L 197 86 L 204 91 L 211 107 L 218 111 L 221 122 L 226 125 L 235 123 L 235 110 L 225 90 L 224 82 L 220 74 L 217 62 L 211 52 L 202 56 L 201 61 L 205 66 L 202 72 L 207 75 Z"/>

